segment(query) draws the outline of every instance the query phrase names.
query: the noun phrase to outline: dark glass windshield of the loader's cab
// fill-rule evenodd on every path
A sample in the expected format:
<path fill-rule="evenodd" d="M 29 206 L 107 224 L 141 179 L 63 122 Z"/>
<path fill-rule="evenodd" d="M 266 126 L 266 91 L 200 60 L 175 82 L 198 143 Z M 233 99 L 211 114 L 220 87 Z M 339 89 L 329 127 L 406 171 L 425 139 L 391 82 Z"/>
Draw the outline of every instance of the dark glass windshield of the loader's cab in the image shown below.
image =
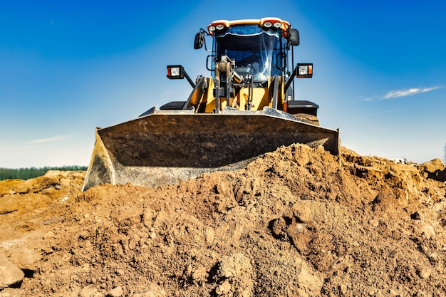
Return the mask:
<path fill-rule="evenodd" d="M 215 37 L 217 61 L 222 56 L 235 60 L 235 71 L 251 74 L 254 82 L 268 80 L 271 75 L 281 75 L 280 35 L 277 31 L 264 31 L 258 25 L 231 26 Z"/>

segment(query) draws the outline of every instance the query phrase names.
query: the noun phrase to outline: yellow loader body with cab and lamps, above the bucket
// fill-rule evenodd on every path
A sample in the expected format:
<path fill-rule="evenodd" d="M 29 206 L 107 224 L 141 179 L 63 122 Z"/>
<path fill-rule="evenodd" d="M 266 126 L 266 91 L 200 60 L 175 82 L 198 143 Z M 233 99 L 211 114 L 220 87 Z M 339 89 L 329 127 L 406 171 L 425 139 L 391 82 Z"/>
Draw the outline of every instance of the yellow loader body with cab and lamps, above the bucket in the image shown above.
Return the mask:
<path fill-rule="evenodd" d="M 212 37 L 212 48 L 207 48 L 206 36 Z M 294 101 L 294 78 L 313 75 L 313 63 L 294 67 L 293 48 L 299 46 L 299 31 L 289 22 L 279 18 L 214 21 L 207 31 L 200 29 L 195 35 L 194 48 L 203 46 L 211 52 L 206 66 L 212 77 L 199 75 L 194 82 L 181 65 L 167 66 L 167 78 L 187 78 L 194 90 L 184 105 L 166 109 L 181 106 L 197 113 L 220 113 L 225 108 L 308 110 L 307 104 L 288 103 Z M 317 105 L 311 108 L 317 109 Z"/>

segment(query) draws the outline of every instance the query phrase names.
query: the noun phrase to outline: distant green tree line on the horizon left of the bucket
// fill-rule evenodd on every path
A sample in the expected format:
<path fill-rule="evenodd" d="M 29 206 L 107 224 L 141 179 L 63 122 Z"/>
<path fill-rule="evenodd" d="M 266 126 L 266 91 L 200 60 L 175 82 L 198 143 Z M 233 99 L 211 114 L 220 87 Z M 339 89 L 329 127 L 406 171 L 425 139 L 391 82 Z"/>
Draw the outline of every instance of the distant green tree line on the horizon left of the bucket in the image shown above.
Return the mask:
<path fill-rule="evenodd" d="M 63 166 L 63 167 L 30 167 L 30 168 L 1 168 L 0 167 L 0 180 L 4 179 L 31 179 L 40 177 L 46 174 L 49 170 L 61 170 L 61 171 L 85 171 L 86 166 Z"/>

